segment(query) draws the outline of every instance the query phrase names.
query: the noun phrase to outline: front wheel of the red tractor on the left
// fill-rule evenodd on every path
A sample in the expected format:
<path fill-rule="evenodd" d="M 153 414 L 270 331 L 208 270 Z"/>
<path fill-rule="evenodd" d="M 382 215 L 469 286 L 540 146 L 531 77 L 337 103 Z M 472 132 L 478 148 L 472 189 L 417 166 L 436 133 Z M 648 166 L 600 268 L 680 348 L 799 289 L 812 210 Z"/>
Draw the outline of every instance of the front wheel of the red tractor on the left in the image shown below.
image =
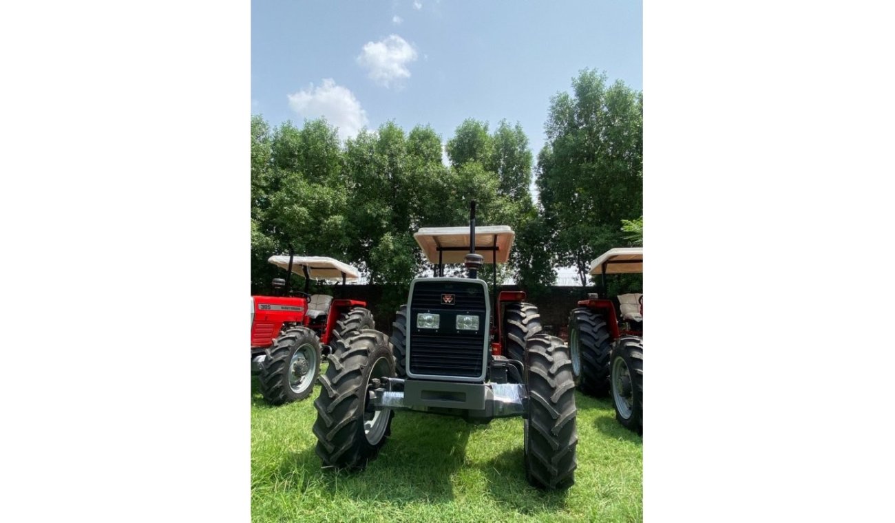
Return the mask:
<path fill-rule="evenodd" d="M 320 375 L 320 360 L 320 339 L 311 329 L 291 327 L 280 333 L 260 369 L 264 400 L 282 405 L 307 398 Z"/>

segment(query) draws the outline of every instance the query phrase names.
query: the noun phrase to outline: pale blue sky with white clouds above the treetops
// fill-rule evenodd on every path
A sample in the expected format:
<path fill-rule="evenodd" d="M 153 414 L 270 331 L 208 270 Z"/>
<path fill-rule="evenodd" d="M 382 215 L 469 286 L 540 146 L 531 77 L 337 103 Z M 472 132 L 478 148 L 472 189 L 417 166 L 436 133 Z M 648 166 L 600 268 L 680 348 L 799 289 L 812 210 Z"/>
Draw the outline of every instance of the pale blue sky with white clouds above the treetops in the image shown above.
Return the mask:
<path fill-rule="evenodd" d="M 394 120 L 447 141 L 466 118 L 519 122 L 533 155 L 550 97 L 585 67 L 643 89 L 640 2 L 392 0 L 251 4 L 251 112 Z"/>

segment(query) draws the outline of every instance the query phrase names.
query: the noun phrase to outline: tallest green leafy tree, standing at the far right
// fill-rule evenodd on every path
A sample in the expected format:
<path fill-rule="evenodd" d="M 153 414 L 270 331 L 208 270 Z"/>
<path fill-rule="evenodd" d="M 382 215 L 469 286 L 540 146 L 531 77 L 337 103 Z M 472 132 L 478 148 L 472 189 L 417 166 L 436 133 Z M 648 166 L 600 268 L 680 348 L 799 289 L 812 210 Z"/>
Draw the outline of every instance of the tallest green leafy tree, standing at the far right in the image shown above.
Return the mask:
<path fill-rule="evenodd" d="M 553 264 L 582 285 L 591 260 L 628 243 L 618 224 L 643 215 L 643 93 L 582 71 L 550 101 L 537 179 Z"/>

